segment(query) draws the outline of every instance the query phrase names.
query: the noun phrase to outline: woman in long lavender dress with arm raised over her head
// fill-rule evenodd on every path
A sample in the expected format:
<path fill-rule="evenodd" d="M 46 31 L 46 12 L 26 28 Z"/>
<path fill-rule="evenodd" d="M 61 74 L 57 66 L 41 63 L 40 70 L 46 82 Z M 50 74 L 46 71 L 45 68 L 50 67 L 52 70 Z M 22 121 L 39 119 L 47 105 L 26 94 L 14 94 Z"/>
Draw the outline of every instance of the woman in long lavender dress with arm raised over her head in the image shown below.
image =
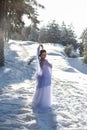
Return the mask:
<path fill-rule="evenodd" d="M 51 107 L 51 70 L 52 65 L 46 60 L 46 50 L 43 45 L 37 48 L 37 86 L 33 107 Z"/>

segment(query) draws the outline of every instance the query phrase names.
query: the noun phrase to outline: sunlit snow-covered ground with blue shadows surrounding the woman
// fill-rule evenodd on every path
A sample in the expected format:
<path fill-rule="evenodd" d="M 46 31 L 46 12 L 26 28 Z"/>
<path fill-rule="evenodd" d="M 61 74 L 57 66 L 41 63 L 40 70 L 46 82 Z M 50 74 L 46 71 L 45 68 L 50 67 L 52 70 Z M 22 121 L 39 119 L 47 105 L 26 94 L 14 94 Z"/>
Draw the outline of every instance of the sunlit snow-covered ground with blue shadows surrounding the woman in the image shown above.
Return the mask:
<path fill-rule="evenodd" d="M 38 43 L 9 41 L 0 68 L 0 130 L 87 130 L 87 66 L 61 45 L 44 45 L 53 64 L 52 109 L 33 110 Z M 34 58 L 28 65 L 28 61 Z"/>

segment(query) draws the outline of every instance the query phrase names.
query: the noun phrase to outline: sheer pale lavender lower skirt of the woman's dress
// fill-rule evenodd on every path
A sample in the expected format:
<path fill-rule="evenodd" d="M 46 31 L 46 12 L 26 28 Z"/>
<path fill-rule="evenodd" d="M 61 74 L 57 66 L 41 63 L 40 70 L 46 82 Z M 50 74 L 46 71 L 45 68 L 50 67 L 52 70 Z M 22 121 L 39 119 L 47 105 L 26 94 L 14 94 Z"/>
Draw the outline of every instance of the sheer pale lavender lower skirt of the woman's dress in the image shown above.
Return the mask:
<path fill-rule="evenodd" d="M 51 105 L 52 105 L 51 86 L 36 89 L 32 106 L 39 108 L 50 108 Z"/>

